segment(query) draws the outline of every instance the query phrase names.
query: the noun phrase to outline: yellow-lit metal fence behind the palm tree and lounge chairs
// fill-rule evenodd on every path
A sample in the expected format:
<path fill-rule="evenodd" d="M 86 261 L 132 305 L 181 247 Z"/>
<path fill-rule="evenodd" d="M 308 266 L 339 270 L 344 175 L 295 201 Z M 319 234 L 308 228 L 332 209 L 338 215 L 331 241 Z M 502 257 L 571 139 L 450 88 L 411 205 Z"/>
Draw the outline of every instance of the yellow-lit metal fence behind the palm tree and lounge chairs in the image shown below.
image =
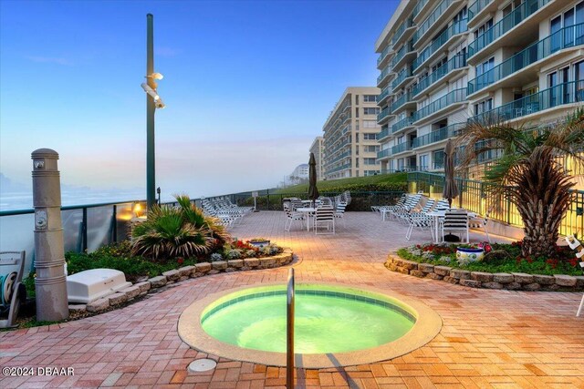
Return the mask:
<path fill-rule="evenodd" d="M 444 185 L 443 174 L 420 171 L 410 172 L 408 173 L 408 183 L 410 185 L 410 191 L 422 190 L 432 198 L 442 198 Z M 490 212 L 490 220 L 497 220 L 516 227 L 523 227 L 521 216 L 510 200 L 506 199 L 499 204 L 495 204 L 496 199 L 491 194 L 492 184 L 461 178 L 456 178 L 456 184 L 460 190 L 460 195 L 458 199 L 454 200 L 454 203 L 458 207 L 471 210 L 480 215 L 485 215 L 486 212 Z M 571 189 L 570 192 L 573 195 L 573 200 L 559 226 L 559 233 L 561 235 L 571 235 L 574 233 L 581 235 L 582 231 L 584 231 L 584 190 Z"/>

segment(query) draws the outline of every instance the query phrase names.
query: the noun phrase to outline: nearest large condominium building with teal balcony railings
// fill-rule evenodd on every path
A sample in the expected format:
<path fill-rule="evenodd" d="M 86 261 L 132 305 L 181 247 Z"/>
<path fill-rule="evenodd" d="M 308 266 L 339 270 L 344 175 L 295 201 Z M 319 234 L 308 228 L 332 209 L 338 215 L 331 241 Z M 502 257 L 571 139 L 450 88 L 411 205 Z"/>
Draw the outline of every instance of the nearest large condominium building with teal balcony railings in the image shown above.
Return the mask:
<path fill-rule="evenodd" d="M 584 0 L 402 0 L 375 49 L 381 169 L 443 169 L 469 120 L 546 125 L 584 101 Z"/>

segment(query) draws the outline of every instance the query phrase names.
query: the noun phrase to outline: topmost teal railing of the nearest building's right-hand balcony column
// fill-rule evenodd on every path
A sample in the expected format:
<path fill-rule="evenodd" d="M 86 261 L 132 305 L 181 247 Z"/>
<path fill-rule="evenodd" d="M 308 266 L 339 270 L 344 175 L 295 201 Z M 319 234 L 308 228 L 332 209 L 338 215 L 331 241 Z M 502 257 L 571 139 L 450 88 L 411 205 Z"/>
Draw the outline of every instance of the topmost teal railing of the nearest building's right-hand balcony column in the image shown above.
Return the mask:
<path fill-rule="evenodd" d="M 516 7 L 509 15 L 498 21 L 495 26 L 486 30 L 482 35 L 474 39 L 468 46 L 468 56 L 474 56 L 476 53 L 495 42 L 500 36 L 503 36 L 513 27 L 523 22 L 527 17 L 535 14 L 537 10 L 547 5 L 550 0 L 528 0 Z"/>

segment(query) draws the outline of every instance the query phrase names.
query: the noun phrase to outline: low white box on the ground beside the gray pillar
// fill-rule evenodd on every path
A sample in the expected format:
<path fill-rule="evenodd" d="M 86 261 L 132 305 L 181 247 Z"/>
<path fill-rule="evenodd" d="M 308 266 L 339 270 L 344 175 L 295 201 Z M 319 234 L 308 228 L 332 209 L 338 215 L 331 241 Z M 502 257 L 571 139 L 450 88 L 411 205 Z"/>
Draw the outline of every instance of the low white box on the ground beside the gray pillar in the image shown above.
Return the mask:
<path fill-rule="evenodd" d="M 87 304 L 131 286 L 122 271 L 91 269 L 67 276 L 69 302 Z"/>

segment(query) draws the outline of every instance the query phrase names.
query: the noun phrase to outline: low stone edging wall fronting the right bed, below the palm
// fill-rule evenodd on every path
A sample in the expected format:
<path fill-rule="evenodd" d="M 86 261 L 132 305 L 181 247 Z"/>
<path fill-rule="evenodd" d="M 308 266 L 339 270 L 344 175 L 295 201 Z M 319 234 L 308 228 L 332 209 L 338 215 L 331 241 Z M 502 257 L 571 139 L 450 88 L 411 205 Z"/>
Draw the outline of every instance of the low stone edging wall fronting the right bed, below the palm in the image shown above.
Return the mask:
<path fill-rule="evenodd" d="M 402 260 L 388 255 L 385 267 L 391 271 L 420 278 L 458 283 L 472 288 L 506 289 L 510 291 L 584 291 L 584 276 L 540 275 L 526 273 L 490 273 L 464 271 L 449 266 Z"/>

